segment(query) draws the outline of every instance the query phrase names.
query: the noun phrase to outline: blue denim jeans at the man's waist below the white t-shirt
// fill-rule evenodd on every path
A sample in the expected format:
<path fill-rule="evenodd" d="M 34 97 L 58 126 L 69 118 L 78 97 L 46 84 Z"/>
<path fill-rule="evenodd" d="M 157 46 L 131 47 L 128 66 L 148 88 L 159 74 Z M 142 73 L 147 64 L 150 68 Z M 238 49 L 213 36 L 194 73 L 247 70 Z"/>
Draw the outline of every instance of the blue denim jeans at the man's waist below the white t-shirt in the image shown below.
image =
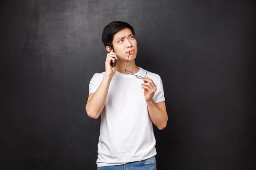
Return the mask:
<path fill-rule="evenodd" d="M 98 170 L 157 170 L 156 156 L 122 165 L 98 167 Z"/>

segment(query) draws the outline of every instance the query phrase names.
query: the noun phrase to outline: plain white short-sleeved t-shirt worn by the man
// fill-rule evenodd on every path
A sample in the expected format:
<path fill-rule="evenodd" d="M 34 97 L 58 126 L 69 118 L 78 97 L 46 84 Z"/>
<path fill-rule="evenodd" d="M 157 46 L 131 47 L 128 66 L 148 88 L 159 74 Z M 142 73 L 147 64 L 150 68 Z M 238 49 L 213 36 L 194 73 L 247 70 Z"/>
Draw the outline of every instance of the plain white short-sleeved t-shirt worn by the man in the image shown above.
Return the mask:
<path fill-rule="evenodd" d="M 144 77 L 146 70 L 140 68 L 135 74 Z M 104 75 L 105 72 L 94 74 L 89 84 L 89 95 L 97 90 Z M 165 101 L 160 76 L 148 71 L 147 77 L 157 85 L 153 100 L 156 103 Z M 98 167 L 140 161 L 157 154 L 142 83 L 142 79 L 118 71 L 113 76 L 101 112 Z"/>

